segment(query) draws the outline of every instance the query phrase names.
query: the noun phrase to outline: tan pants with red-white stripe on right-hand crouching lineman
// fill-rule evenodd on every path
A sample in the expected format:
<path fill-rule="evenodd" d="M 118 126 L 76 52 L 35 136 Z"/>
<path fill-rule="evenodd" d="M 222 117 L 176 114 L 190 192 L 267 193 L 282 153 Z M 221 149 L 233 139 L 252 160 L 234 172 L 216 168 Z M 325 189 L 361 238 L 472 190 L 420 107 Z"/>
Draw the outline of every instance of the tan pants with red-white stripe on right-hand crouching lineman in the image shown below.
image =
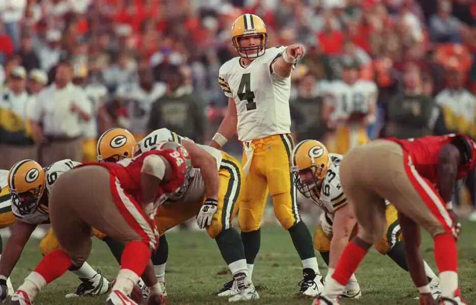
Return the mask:
<path fill-rule="evenodd" d="M 376 140 L 352 148 L 342 160 L 341 182 L 359 225 L 357 235 L 370 244 L 385 233 L 383 198 L 432 236 L 451 231 L 441 198 L 409 158 L 396 142 Z"/>

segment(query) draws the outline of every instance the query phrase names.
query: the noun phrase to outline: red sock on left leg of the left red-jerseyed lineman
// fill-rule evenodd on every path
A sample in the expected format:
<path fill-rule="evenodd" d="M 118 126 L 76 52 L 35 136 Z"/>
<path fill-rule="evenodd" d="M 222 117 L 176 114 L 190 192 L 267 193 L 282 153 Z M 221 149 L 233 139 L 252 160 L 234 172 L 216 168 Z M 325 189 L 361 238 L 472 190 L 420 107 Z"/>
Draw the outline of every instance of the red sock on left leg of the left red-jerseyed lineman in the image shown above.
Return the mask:
<path fill-rule="evenodd" d="M 64 275 L 69 267 L 71 267 L 71 260 L 68 255 L 63 250 L 57 249 L 43 257 L 33 271 L 39 273 L 46 283 L 50 283 Z"/>

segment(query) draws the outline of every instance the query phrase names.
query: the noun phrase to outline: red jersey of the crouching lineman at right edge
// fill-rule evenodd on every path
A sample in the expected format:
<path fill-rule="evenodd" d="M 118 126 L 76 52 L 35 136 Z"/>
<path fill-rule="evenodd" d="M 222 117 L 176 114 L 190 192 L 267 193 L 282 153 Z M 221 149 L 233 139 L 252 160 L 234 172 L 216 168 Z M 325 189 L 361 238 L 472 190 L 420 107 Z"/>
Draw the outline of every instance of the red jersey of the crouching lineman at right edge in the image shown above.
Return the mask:
<path fill-rule="evenodd" d="M 427 136 L 415 139 L 387 138 L 386 140 L 399 143 L 411 157 L 411 161 L 418 173 L 434 184 L 437 183 L 436 169 L 439 162 L 438 154 L 444 144 L 456 144 L 463 154 L 464 164 L 458 168 L 458 180 L 464 178 L 471 171 L 476 162 L 476 143 L 461 133 L 444 136 Z"/>

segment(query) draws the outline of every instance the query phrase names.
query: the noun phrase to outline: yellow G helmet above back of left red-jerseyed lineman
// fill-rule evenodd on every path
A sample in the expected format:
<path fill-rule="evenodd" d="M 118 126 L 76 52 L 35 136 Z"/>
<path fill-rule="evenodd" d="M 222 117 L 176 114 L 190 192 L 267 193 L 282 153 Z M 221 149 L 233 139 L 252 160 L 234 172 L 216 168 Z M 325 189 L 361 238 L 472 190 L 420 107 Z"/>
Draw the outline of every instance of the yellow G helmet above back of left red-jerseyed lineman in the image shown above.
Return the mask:
<path fill-rule="evenodd" d="M 132 158 L 137 149 L 134 136 L 123 128 L 111 128 L 98 140 L 97 158 L 99 162 L 118 162 Z"/>

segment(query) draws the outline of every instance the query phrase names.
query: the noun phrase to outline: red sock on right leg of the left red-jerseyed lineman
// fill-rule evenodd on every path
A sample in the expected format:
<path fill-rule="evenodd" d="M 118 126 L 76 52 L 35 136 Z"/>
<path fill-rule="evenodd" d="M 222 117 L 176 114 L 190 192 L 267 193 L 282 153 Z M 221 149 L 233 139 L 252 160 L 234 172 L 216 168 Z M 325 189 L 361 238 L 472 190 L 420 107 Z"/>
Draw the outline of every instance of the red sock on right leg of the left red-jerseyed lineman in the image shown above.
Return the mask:
<path fill-rule="evenodd" d="M 150 248 L 142 241 L 127 243 L 121 256 L 121 269 L 129 269 L 142 275 L 152 255 Z"/>

